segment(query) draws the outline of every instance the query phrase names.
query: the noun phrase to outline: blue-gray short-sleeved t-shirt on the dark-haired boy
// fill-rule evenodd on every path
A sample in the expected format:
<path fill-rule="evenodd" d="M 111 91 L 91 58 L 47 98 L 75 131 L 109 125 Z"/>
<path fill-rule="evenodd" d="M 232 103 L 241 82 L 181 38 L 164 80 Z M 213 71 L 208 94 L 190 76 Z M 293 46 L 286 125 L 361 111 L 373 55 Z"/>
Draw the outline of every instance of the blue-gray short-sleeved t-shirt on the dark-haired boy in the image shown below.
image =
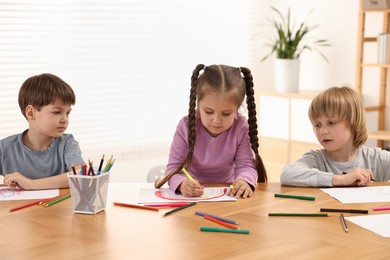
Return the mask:
<path fill-rule="evenodd" d="M 71 134 L 54 139 L 43 151 L 33 151 L 26 147 L 22 135 L 16 134 L 0 140 L 1 175 L 20 172 L 28 178 L 40 179 L 70 171 L 72 165 L 83 163 L 79 143 Z"/>

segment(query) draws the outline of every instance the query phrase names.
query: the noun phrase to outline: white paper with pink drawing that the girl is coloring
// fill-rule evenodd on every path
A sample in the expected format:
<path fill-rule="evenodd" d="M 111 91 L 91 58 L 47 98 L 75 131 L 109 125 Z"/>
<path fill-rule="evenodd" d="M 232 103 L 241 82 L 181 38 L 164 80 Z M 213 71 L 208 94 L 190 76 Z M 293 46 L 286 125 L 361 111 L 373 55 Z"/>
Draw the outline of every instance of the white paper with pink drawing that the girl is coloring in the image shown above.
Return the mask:
<path fill-rule="evenodd" d="M 237 198 L 228 195 L 229 191 L 227 187 L 206 187 L 202 197 L 184 197 L 169 188 L 141 189 L 138 203 L 237 201 Z"/>

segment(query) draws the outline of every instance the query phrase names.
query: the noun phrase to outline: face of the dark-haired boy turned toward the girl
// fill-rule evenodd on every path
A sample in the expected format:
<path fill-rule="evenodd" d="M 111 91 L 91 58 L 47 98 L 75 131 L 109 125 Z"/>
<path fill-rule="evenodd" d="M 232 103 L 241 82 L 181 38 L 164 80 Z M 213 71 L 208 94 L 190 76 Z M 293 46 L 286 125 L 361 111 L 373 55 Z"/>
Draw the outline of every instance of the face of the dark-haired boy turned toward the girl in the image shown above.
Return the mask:
<path fill-rule="evenodd" d="M 69 123 L 71 105 L 64 104 L 59 100 L 35 110 L 33 126 L 35 133 L 56 138 L 63 135 Z"/>

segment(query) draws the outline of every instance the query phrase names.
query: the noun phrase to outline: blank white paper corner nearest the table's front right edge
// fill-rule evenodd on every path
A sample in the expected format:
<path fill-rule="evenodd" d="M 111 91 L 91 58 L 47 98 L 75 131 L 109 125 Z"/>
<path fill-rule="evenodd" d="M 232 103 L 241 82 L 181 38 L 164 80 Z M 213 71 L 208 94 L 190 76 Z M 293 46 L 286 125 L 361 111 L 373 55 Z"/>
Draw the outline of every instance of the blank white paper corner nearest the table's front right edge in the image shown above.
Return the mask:
<path fill-rule="evenodd" d="M 390 237 L 390 214 L 353 216 L 345 219 L 382 237 Z"/>

